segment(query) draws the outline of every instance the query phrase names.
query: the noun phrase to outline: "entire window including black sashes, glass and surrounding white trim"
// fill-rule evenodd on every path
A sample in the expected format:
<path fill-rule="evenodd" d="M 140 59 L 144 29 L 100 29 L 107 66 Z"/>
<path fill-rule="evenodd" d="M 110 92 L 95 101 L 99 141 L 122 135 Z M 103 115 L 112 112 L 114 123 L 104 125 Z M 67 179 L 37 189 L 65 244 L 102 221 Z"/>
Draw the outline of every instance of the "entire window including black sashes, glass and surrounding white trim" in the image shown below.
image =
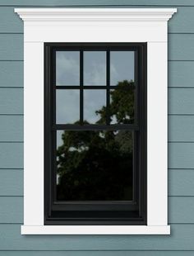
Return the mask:
<path fill-rule="evenodd" d="M 174 8 L 21 8 L 15 9 L 15 12 L 24 20 L 24 225 L 21 226 L 21 234 L 169 235 L 167 158 L 168 20 L 177 10 Z M 64 47 L 64 42 L 66 42 L 66 47 Z M 67 44 L 70 47 L 72 42 L 75 44 L 74 49 L 68 48 L 67 50 Z M 115 43 L 117 43 L 118 50 L 113 49 Z M 47 45 L 47 52 L 44 54 L 45 45 Z M 127 47 L 127 53 L 123 56 L 124 45 Z M 89 50 L 89 46 L 93 48 Z M 98 51 L 98 55 L 96 51 Z M 56 53 L 57 59 L 53 58 L 51 52 Z M 82 57 L 81 52 L 83 52 Z M 108 58 L 107 52 L 109 52 Z M 115 104 L 113 101 L 115 94 L 121 94 L 118 92 L 118 81 L 122 81 L 122 79 L 128 81 L 132 77 L 131 74 L 127 76 L 127 73 L 125 73 L 126 65 L 123 65 L 122 68 L 118 66 L 119 58 L 132 60 L 132 55 L 129 57 L 129 52 L 131 54 L 134 52 L 134 70 L 137 71 L 134 76 L 134 115 L 131 112 L 125 120 L 127 123 L 122 124 L 122 122 L 119 123 L 122 118 L 118 119 L 118 116 L 113 115 L 117 112 L 113 111 L 112 107 Z M 136 58 L 136 55 L 139 56 L 139 59 Z M 47 56 L 47 58 L 44 59 L 44 56 Z M 67 66 L 64 68 L 67 73 L 65 77 L 62 75 L 63 72 L 60 72 L 62 59 L 71 59 L 74 65 L 74 69 L 68 69 Z M 92 63 L 93 59 L 95 59 L 95 64 Z M 143 59 L 146 61 L 145 66 Z M 100 68 L 99 64 L 101 64 Z M 115 69 L 120 70 L 118 77 L 113 76 L 111 64 Z M 45 66 L 47 66 L 46 69 Z M 53 76 L 56 81 L 52 78 L 53 70 L 51 70 L 51 67 L 56 73 Z M 96 75 L 98 72 L 100 76 Z M 48 74 L 45 76 L 48 83 L 46 88 L 50 88 L 48 91 L 44 90 L 44 73 Z M 142 90 L 142 84 L 146 84 L 146 87 L 144 87 L 146 91 Z M 90 87 L 94 87 L 94 89 Z M 136 88 L 138 88 L 138 92 Z M 56 97 L 53 97 L 54 93 Z M 99 94 L 94 97 L 94 93 L 95 95 Z M 130 95 L 132 96 L 132 94 Z M 127 97 L 127 94 L 125 97 Z M 69 99 L 68 102 L 65 100 L 67 98 Z M 92 107 L 89 107 L 92 98 L 94 98 Z M 64 102 L 61 99 L 64 99 Z M 97 101 L 97 99 L 100 99 L 100 101 Z M 56 104 L 53 103 L 54 101 L 56 101 Z M 133 101 L 131 102 L 133 107 Z M 48 106 L 45 107 L 44 103 Z M 145 104 L 146 108 L 143 109 Z M 55 107 L 57 112 L 53 111 Z M 64 107 L 65 110 L 68 107 L 70 111 L 64 112 Z M 44 113 L 44 109 L 48 111 Z M 140 111 L 141 109 L 143 111 Z M 62 116 L 61 111 L 63 111 Z M 99 115 L 95 115 L 95 111 Z M 72 116 L 69 116 L 68 112 L 71 112 Z M 101 115 L 103 113 L 105 117 L 101 118 L 100 113 Z M 44 120 L 45 123 L 48 123 L 47 127 L 44 127 Z M 76 121 L 78 121 L 77 124 L 75 124 Z M 85 121 L 88 124 L 84 123 Z M 67 129 L 67 125 L 74 126 L 74 130 L 72 127 Z M 75 126 L 81 127 L 81 130 L 75 130 Z M 103 129 L 97 129 L 97 126 L 102 126 Z M 111 127 L 113 127 L 113 130 L 111 130 Z M 114 127 L 117 127 L 117 129 Z M 60 134 L 61 130 L 62 135 Z M 121 199 L 127 198 L 128 217 L 128 214 L 132 213 L 132 204 L 130 206 L 129 203 L 132 200 L 130 199 L 135 198 L 137 192 L 141 190 L 142 196 L 138 197 L 139 201 L 136 203 L 135 209 L 136 222 L 133 221 L 134 219 L 128 218 L 128 222 L 124 224 L 122 222 L 123 218 L 120 218 L 120 222 L 116 224 L 115 221 L 110 223 L 108 219 L 109 224 L 107 225 L 107 223 L 102 222 L 107 209 L 104 210 L 102 217 L 97 216 L 97 219 L 95 219 L 95 221 L 98 220 L 97 224 L 94 222 L 94 215 L 92 216 L 94 212 L 91 211 L 89 212 L 90 217 L 93 217 L 93 222 L 90 225 L 85 225 L 86 223 L 83 223 L 83 221 L 79 225 L 77 221 L 76 225 L 75 218 L 73 222 L 64 219 L 60 222 L 59 215 L 62 213 L 62 216 L 64 216 L 63 214 L 67 213 L 67 211 L 62 212 L 62 207 L 67 209 L 68 202 L 72 200 L 72 197 L 77 199 L 79 196 L 80 199 L 84 198 L 85 201 L 91 201 L 88 200 L 90 199 L 89 195 L 86 195 L 83 190 L 81 195 L 75 192 L 71 195 L 68 191 L 68 194 L 65 194 L 66 198 L 64 198 L 64 192 L 61 192 L 64 187 L 61 186 L 62 174 L 61 176 L 58 175 L 60 175 L 59 169 L 63 168 L 62 161 L 65 160 L 64 154 L 60 153 L 63 150 L 59 146 L 61 138 L 62 140 L 67 139 L 71 135 L 71 131 L 73 137 L 78 131 L 79 137 L 83 134 L 88 135 L 88 144 L 79 147 L 79 151 L 82 150 L 81 152 L 84 151 L 86 154 L 92 152 L 90 147 L 93 136 L 98 141 L 95 145 L 99 145 L 99 141 L 103 145 L 104 136 L 106 138 L 107 134 L 112 136 L 111 143 L 119 144 L 118 136 L 123 135 L 123 130 L 129 134 L 126 143 L 130 145 L 130 149 L 133 149 L 134 154 L 131 154 L 131 157 L 133 160 L 138 159 L 139 161 L 138 163 L 136 163 L 136 160 L 132 162 L 133 173 L 132 168 L 128 168 L 131 169 L 133 180 L 138 182 L 128 183 L 125 186 L 128 191 L 130 190 L 129 187 L 133 186 L 131 194 L 122 190 L 122 196 L 118 197 L 117 195 L 116 197 L 115 194 L 112 194 L 113 183 L 109 182 L 109 178 L 105 179 L 109 185 L 107 186 L 109 188 L 109 193 L 107 193 L 109 198 L 106 197 L 107 194 L 104 196 L 104 191 L 101 192 L 100 199 L 103 203 L 100 209 L 109 206 L 109 201 L 112 201 L 113 211 L 115 211 L 117 207 L 114 203 L 115 199 L 119 199 L 118 206 L 121 209 Z M 146 130 L 146 135 L 141 132 L 143 130 Z M 86 133 L 86 131 L 88 132 Z M 46 135 L 46 133 L 49 134 Z M 48 141 L 48 147 L 45 150 L 44 137 L 53 138 L 52 141 Z M 140 147 L 144 139 L 146 140 L 145 145 Z M 146 149 L 145 152 L 144 149 Z M 78 149 L 75 149 L 73 145 L 71 149 L 68 148 L 68 151 L 77 155 Z M 49 156 L 48 152 L 50 152 Z M 130 150 L 127 152 L 130 152 Z M 138 155 L 135 152 L 138 152 Z M 99 154 L 101 153 L 100 150 Z M 117 151 L 118 153 L 119 151 Z M 110 158 L 111 154 L 113 154 L 112 151 L 109 154 Z M 80 156 L 80 154 L 78 155 Z M 51 174 L 51 170 L 53 170 L 52 177 L 48 177 L 44 173 L 44 156 L 51 159 L 48 172 Z M 45 161 L 45 163 L 48 162 Z M 103 163 L 107 162 L 104 161 Z M 140 163 L 142 168 L 138 167 Z M 52 168 L 52 164 L 55 164 L 54 168 Z M 96 164 L 98 166 L 99 162 L 97 161 Z M 119 164 L 119 162 L 116 164 Z M 130 165 L 129 162 L 128 165 Z M 125 173 L 126 179 L 129 173 Z M 136 174 L 136 177 L 134 174 Z M 141 174 L 141 177 L 137 177 L 139 174 Z M 142 174 L 146 174 L 146 178 L 142 177 Z M 81 175 L 81 177 L 83 176 Z M 48 181 L 53 182 L 48 184 Z M 141 186 L 141 183 L 146 184 Z M 73 184 L 74 191 L 77 184 L 80 184 L 80 179 L 76 179 L 76 183 Z M 71 183 L 67 185 L 69 186 Z M 96 187 L 92 188 L 96 192 L 99 191 Z M 47 202 L 44 198 L 44 195 L 46 196 L 44 189 L 48 191 Z M 58 193 L 52 192 L 52 189 L 55 189 Z M 57 204 L 55 204 L 56 198 L 52 198 L 53 195 L 54 197 L 58 196 Z M 67 197 L 69 200 L 67 200 Z M 95 199 L 99 199 L 99 195 L 97 197 L 93 193 L 90 197 L 93 201 L 91 204 L 93 208 L 90 210 L 94 210 L 94 207 L 98 204 L 98 200 Z M 48 202 L 50 202 L 48 207 L 45 207 Z M 76 211 L 79 213 L 81 212 L 80 202 L 78 201 L 76 205 L 74 201 L 72 204 L 72 206 L 77 206 Z M 142 209 L 142 206 L 145 209 Z M 70 204 L 68 207 L 70 207 Z M 122 207 L 124 208 L 124 206 Z M 46 209 L 49 212 L 44 211 Z M 123 211 L 120 214 L 123 216 Z M 101 217 L 101 220 L 99 217 Z M 78 215 L 78 218 L 80 218 L 80 215 Z"/>

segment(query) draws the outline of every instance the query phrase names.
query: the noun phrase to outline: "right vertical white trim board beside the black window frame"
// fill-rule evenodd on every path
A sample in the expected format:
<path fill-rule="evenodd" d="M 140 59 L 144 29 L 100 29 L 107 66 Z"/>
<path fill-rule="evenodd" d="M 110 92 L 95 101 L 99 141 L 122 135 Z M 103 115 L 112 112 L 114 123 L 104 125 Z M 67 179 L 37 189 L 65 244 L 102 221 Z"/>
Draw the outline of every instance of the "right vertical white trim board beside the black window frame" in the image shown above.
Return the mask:
<path fill-rule="evenodd" d="M 168 225 L 168 53 L 147 43 L 147 224 Z"/>

